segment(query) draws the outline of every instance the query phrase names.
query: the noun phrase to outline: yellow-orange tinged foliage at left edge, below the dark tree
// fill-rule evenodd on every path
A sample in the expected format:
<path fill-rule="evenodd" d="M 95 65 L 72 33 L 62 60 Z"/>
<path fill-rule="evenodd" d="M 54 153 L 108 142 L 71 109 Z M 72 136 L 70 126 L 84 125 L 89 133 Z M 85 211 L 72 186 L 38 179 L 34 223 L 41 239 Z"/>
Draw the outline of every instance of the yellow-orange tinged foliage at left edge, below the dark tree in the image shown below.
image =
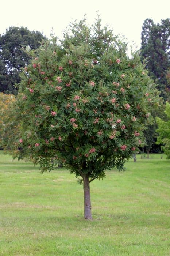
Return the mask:
<path fill-rule="evenodd" d="M 11 148 L 10 142 L 16 135 L 18 121 L 12 111 L 16 98 L 13 94 L 0 93 L 0 147 Z"/>

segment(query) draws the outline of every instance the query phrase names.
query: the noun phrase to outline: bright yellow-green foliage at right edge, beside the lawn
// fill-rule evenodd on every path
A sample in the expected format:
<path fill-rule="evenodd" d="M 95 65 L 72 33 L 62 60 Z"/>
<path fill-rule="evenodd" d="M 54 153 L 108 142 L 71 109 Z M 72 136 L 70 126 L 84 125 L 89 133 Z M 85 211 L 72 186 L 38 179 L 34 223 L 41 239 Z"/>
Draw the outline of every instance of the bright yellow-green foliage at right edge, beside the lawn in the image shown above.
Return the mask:
<path fill-rule="evenodd" d="M 157 132 L 159 134 L 157 138 L 157 144 L 163 144 L 161 148 L 166 154 L 167 158 L 170 159 L 170 104 L 168 102 L 166 102 L 165 114 L 168 117 L 167 121 L 156 117 L 158 124 Z"/>

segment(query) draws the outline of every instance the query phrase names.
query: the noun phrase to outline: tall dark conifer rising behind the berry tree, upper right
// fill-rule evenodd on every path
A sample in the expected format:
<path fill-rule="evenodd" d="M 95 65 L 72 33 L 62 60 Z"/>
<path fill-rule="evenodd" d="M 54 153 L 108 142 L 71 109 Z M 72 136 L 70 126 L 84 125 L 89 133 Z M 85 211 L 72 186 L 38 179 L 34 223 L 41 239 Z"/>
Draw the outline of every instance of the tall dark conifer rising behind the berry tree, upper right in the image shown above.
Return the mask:
<path fill-rule="evenodd" d="M 149 71 L 149 76 L 156 80 L 161 97 L 169 98 L 170 87 L 166 78 L 170 68 L 170 19 L 161 20 L 155 25 L 152 19 L 143 23 L 142 44 L 140 49 L 141 60 Z"/>

